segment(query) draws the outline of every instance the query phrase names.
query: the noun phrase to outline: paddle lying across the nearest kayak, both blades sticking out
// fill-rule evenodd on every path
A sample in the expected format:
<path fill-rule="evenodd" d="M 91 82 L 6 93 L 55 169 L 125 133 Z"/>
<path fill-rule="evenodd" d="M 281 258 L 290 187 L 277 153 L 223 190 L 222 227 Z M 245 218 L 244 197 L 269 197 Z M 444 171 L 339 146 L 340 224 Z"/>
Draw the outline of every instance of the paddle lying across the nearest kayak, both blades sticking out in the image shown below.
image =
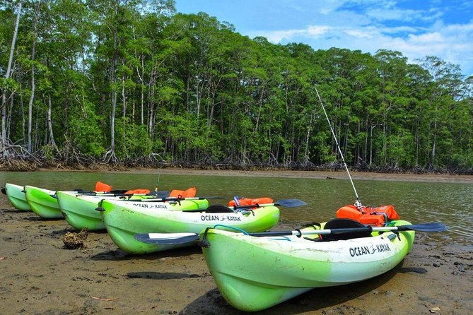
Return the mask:
<path fill-rule="evenodd" d="M 294 231 L 274 231 L 274 232 L 256 232 L 248 233 L 252 237 L 276 237 L 295 235 L 301 237 L 302 235 L 317 235 L 317 234 L 342 234 L 351 232 L 386 232 L 386 231 L 416 231 L 416 232 L 442 232 L 448 230 L 446 225 L 441 223 L 421 223 L 418 225 L 401 225 L 399 227 L 346 227 L 340 229 L 327 230 L 294 230 Z M 139 242 L 147 244 L 159 245 L 178 245 L 196 242 L 199 239 L 197 233 L 139 233 L 134 234 L 134 238 Z"/>

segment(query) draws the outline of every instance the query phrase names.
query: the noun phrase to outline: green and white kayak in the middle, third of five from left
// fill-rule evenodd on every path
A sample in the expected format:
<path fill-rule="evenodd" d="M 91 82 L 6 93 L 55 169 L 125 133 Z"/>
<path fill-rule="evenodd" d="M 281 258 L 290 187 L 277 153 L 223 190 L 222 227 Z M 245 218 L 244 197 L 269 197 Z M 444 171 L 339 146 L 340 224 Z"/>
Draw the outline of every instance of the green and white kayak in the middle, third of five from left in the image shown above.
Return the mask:
<path fill-rule="evenodd" d="M 64 219 L 77 230 L 82 230 L 84 227 L 87 227 L 88 230 L 91 231 L 105 230 L 102 215 L 95 210 L 101 200 L 120 198 L 143 199 L 152 197 L 138 194 L 129 197 L 106 196 L 106 194 L 105 196 L 100 196 L 100 194 L 88 196 L 86 194 L 77 193 L 76 191 L 57 191 L 56 196 Z"/>

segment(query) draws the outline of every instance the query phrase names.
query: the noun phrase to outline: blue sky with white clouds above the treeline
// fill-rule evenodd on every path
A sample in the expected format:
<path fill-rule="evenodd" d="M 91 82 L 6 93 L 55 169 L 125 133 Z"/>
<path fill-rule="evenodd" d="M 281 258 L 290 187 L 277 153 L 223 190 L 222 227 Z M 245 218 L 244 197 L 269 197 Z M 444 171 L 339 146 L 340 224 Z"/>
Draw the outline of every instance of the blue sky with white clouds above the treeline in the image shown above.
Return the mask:
<path fill-rule="evenodd" d="M 473 74 L 472 0 L 176 0 L 180 13 L 205 12 L 251 38 L 436 56 Z"/>

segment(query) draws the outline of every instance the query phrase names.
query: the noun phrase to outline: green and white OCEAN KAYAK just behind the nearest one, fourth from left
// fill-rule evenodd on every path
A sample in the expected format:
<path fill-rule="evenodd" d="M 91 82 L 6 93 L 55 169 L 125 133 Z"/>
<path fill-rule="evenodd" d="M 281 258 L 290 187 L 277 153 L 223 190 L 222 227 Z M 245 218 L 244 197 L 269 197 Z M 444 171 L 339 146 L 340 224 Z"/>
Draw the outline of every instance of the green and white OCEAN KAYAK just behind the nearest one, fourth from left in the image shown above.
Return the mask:
<path fill-rule="evenodd" d="M 124 251 L 132 254 L 147 254 L 178 247 L 186 244 L 145 244 L 134 238 L 134 234 L 160 232 L 200 233 L 206 227 L 224 225 L 227 230 L 234 227 L 250 232 L 268 230 L 279 220 L 279 208 L 264 206 L 251 211 L 233 212 L 228 207 L 218 206 L 219 212 L 211 212 L 206 200 L 185 200 L 179 203 L 150 203 L 146 201 L 104 200 L 103 222 L 113 242 Z M 222 212 L 221 208 L 228 212 Z"/>

